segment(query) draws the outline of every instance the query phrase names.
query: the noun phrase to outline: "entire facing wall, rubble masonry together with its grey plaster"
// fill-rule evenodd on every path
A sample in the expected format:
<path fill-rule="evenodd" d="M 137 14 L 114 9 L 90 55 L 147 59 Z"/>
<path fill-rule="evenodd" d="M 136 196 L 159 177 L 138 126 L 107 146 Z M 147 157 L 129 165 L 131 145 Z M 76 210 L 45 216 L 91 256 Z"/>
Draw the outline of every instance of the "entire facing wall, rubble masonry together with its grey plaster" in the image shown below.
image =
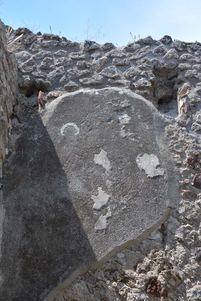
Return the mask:
<path fill-rule="evenodd" d="M 118 251 L 98 269 L 95 265 L 91 266 L 90 271 L 72 284 L 73 277 L 70 277 L 46 300 L 53 300 L 56 296 L 59 301 L 200 300 L 200 43 L 172 42 L 169 36 L 160 41 L 147 37 L 123 48 L 115 48 L 112 43 L 98 45 L 86 41 L 77 44 L 51 34 L 35 35 L 27 29 L 17 29 L 10 36 L 9 48 L 17 55 L 21 94 L 12 119 L 14 139 L 5 164 L 6 214 L 2 248 L 5 257 L 1 262 L 5 281 L 0 289 L 1 296 L 15 301 L 21 300 L 22 296 L 27 300 L 42 300 L 50 289 L 74 271 L 76 266 L 72 264 L 72 259 L 77 260 L 77 267 L 93 264 L 105 254 L 102 247 L 107 249 L 107 253 L 115 244 L 136 237 L 133 235 L 137 227 L 133 217 L 138 211 L 132 200 L 132 188 L 135 187 L 132 179 L 135 177 L 136 180 L 143 177 L 141 182 L 138 179 L 137 194 L 142 194 L 141 197 L 138 195 L 138 201 L 144 200 L 144 189 L 151 196 L 148 202 L 151 207 L 143 207 L 138 213 L 139 218 L 144 211 L 147 221 L 152 221 L 153 225 L 159 218 L 161 208 L 164 214 L 165 204 L 167 206 L 165 198 L 171 198 L 168 197 L 165 182 L 164 186 L 155 184 L 159 188 L 159 209 L 157 200 L 149 194 L 151 189 L 146 181 L 162 181 L 166 175 L 171 175 L 165 172 L 170 168 L 175 177 L 175 185 L 171 187 L 176 202 L 169 203 L 171 212 L 168 219 L 159 227 L 155 224 L 157 228 L 147 238 L 143 237 L 142 242 L 132 245 L 131 241 L 131 246 Z M 179 92 L 178 88 L 185 81 L 186 87 Z M 117 87 L 120 89 L 116 90 Z M 40 89 L 45 92 L 46 106 L 38 114 L 37 93 Z M 74 92 L 76 90 L 81 91 Z M 86 90 L 89 91 L 86 93 Z M 118 95 L 113 95 L 108 103 L 96 100 L 110 91 L 118 91 Z M 130 93 L 133 96 L 127 97 L 136 99 L 137 107 L 134 103 L 129 107 L 130 99 L 124 99 Z M 139 98 L 137 94 L 144 98 Z M 140 99 L 142 103 L 138 104 Z M 152 130 L 152 126 L 156 127 L 151 119 L 152 104 L 149 113 L 146 111 L 144 116 L 140 116 L 147 102 L 159 110 L 155 114 L 159 116 L 157 120 L 164 130 L 159 130 L 162 135 L 158 138 L 161 143 L 163 141 L 162 149 L 169 148 L 169 158 L 174 159 L 174 164 L 168 165 L 163 161 L 167 158 L 159 153 L 157 143 L 156 153 L 153 144 L 149 143 L 153 138 L 157 141 L 157 131 Z M 88 106 L 87 112 L 84 103 Z M 100 104 L 104 104 L 105 111 L 104 107 L 100 110 Z M 96 115 L 96 121 L 91 110 Z M 83 112 L 82 119 L 80 111 Z M 143 120 L 143 125 L 137 122 L 137 118 Z M 135 123 L 136 132 L 141 130 L 139 135 L 133 129 Z M 144 134 L 146 123 L 149 125 L 148 136 Z M 93 137 L 96 128 L 101 125 L 107 126 L 108 140 L 107 135 L 99 139 Z M 20 138 L 17 139 L 19 133 Z M 88 147 L 91 137 L 95 142 L 94 145 L 89 143 Z M 139 153 L 140 141 L 146 137 L 149 138 Z M 137 142 L 137 139 L 140 141 Z M 117 141 L 119 143 L 115 149 L 109 144 L 112 141 L 113 147 Z M 122 154 L 116 154 L 115 151 L 120 151 L 123 144 L 125 149 Z M 131 144 L 133 148 L 129 147 Z M 104 148 L 106 146 L 108 149 Z M 20 149 L 15 156 L 12 152 L 14 147 Z M 93 163 L 93 166 L 87 170 L 89 162 L 84 158 L 90 152 L 90 164 Z M 131 168 L 127 169 L 129 176 L 126 173 L 124 177 L 121 170 L 122 176 L 113 182 L 112 176 L 105 178 L 105 173 L 110 175 L 115 171 L 110 169 L 115 160 L 126 162 Z M 86 166 L 83 161 L 88 162 Z M 99 175 L 94 173 L 93 177 L 88 178 L 95 167 Z M 94 184 L 90 183 L 92 179 Z M 9 190 L 11 183 L 12 187 L 16 187 L 13 190 Z M 180 196 L 174 190 L 178 183 Z M 116 191 L 122 191 L 122 194 L 117 197 L 117 203 L 112 203 L 112 197 L 108 196 L 116 193 L 115 186 L 118 188 Z M 126 186 L 130 187 L 130 191 L 124 195 L 123 188 Z M 87 190 L 89 187 L 90 191 Z M 160 194 L 161 189 L 163 194 Z M 162 202 L 163 196 L 165 203 Z M 66 205 L 70 199 L 69 210 Z M 118 211 L 115 209 L 119 206 L 118 201 L 122 202 L 122 216 L 124 212 L 125 216 L 131 214 L 129 219 L 133 227 L 126 221 L 126 231 L 120 220 L 120 225 L 116 224 L 119 227 L 119 237 L 116 239 L 116 229 L 112 230 L 111 225 Z M 138 221 L 138 225 L 142 224 L 143 221 Z M 90 230 L 92 228 L 95 232 Z M 102 235 L 101 240 L 100 236 L 92 239 L 92 233 Z M 124 233 L 125 240 L 122 240 Z M 72 237 L 75 244 L 71 243 Z M 104 239 L 107 238 L 108 243 L 110 237 L 111 246 L 108 248 Z M 67 240 L 71 243 L 70 248 Z M 94 246 L 98 246 L 100 241 L 102 255 L 99 256 Z M 13 242 L 13 267 L 10 268 L 8 248 L 13 247 Z"/>

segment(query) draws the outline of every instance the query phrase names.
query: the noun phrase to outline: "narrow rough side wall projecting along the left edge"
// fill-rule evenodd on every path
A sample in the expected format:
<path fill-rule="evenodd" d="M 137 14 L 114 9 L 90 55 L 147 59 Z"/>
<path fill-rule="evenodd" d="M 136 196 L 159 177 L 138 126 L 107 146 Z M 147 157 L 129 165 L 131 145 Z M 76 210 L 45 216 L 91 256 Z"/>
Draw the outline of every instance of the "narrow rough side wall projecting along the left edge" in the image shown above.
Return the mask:
<path fill-rule="evenodd" d="M 11 115 L 17 88 L 17 61 L 7 50 L 5 25 L 0 20 L 0 261 L 5 209 L 3 208 L 2 163 L 8 155 L 8 138 L 11 136 Z M 0 284 L 2 274 L 0 271 Z"/>

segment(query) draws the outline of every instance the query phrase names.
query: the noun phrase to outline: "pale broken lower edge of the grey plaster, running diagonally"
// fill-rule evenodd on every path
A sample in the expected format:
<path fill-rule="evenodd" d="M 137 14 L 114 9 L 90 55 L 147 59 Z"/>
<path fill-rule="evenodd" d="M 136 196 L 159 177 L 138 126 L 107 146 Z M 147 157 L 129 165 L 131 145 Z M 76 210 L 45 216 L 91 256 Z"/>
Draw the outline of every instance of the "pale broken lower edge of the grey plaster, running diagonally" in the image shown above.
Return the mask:
<path fill-rule="evenodd" d="M 66 280 L 64 280 L 64 282 L 62 284 L 55 287 L 55 289 L 53 289 L 48 294 L 48 296 L 44 299 L 44 301 L 54 301 L 55 298 L 58 296 L 58 294 L 61 293 L 61 291 L 64 290 L 65 288 L 69 287 L 71 285 L 71 283 L 73 281 L 75 281 L 78 277 L 80 277 L 84 273 L 88 272 L 89 270 L 92 270 L 92 271 L 96 270 L 97 268 L 99 268 L 101 265 L 105 264 L 109 259 L 114 257 L 119 252 L 121 252 L 124 249 L 129 248 L 133 245 L 135 246 L 135 245 L 139 244 L 140 242 L 142 242 L 143 240 L 145 240 L 152 231 L 154 231 L 156 228 L 158 228 L 160 225 L 162 225 L 166 221 L 166 219 L 168 218 L 168 216 L 170 214 L 170 211 L 171 211 L 171 207 L 168 207 L 166 209 L 165 213 L 163 214 L 163 216 L 154 225 L 152 225 L 151 227 L 149 227 L 148 229 L 143 231 L 138 237 L 128 240 L 125 243 L 114 247 L 102 259 L 94 262 L 92 265 L 85 265 L 80 268 L 77 268 Z"/>

